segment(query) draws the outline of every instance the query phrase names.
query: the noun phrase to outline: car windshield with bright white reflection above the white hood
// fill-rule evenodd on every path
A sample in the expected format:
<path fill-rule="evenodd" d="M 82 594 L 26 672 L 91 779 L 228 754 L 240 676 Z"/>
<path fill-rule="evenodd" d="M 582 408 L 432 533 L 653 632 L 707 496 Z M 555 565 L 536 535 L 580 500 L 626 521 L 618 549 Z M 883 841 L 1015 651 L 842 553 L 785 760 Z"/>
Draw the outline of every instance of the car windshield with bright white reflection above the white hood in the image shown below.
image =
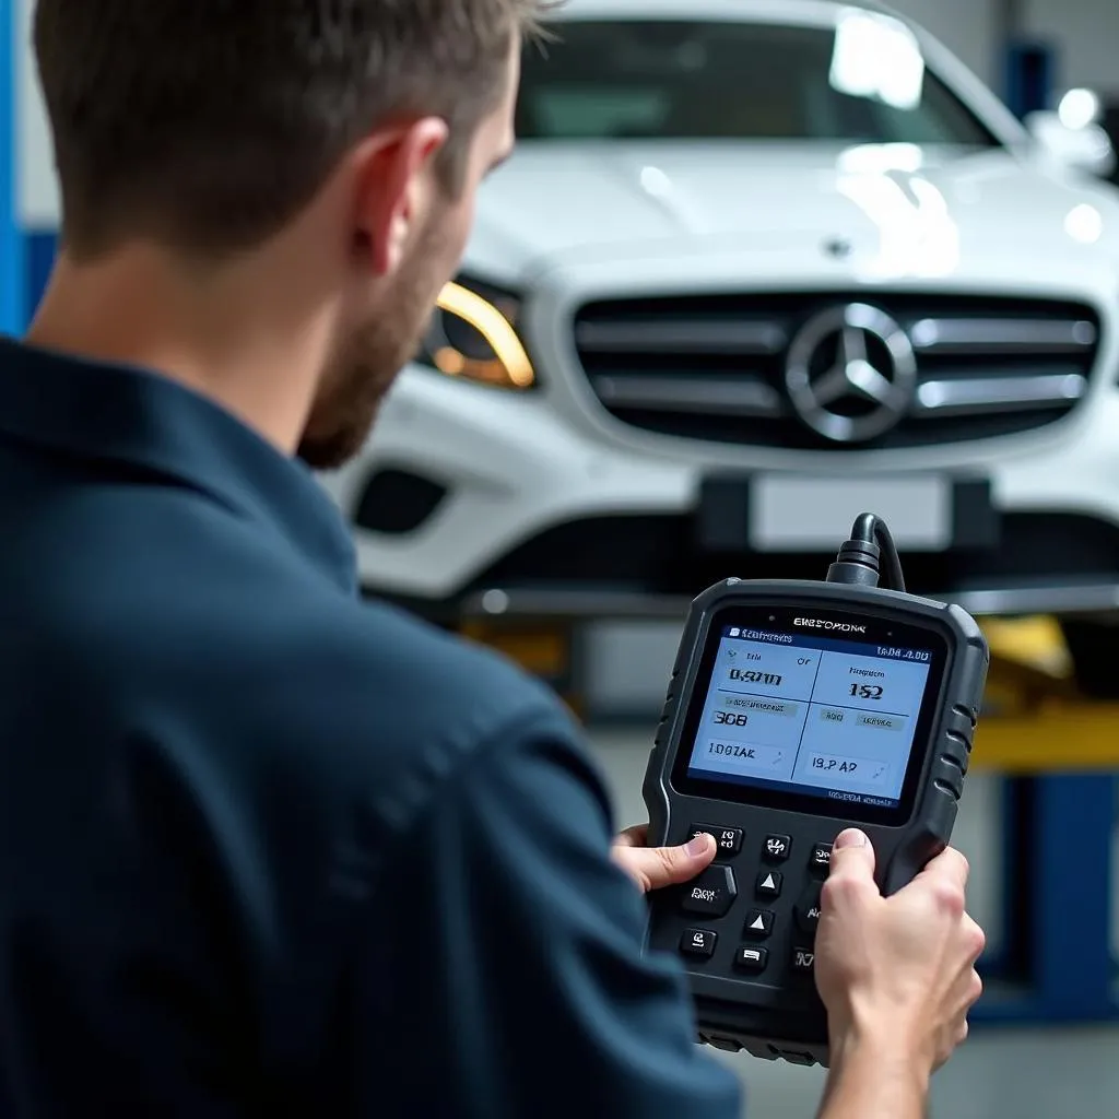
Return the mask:
<path fill-rule="evenodd" d="M 997 147 L 896 20 L 836 28 L 571 20 L 526 50 L 525 140 L 820 140 Z"/>

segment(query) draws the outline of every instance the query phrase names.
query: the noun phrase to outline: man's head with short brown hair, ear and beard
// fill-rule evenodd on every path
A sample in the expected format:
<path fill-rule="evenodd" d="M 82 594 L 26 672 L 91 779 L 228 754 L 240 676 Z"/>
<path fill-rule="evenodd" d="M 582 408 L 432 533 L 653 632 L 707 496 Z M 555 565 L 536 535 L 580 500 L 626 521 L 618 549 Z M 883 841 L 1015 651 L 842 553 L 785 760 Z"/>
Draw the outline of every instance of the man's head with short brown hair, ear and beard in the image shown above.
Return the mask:
<path fill-rule="evenodd" d="M 67 257 L 143 243 L 205 274 L 301 235 L 292 280 L 318 281 L 330 323 L 301 453 L 339 464 L 511 149 L 519 47 L 545 7 L 38 0 Z"/>

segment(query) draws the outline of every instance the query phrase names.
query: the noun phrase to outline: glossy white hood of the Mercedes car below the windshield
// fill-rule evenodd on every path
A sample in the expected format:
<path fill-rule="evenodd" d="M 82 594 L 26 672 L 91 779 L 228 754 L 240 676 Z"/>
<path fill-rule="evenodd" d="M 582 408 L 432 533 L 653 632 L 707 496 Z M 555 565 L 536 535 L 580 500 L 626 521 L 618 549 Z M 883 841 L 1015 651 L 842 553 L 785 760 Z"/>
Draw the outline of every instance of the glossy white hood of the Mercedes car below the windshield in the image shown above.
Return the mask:
<path fill-rule="evenodd" d="M 480 192 L 467 266 L 525 281 L 705 247 L 822 250 L 890 276 L 948 275 L 976 256 L 1021 269 L 1024 251 L 1119 261 L 1117 199 L 1002 150 L 526 143 Z"/>

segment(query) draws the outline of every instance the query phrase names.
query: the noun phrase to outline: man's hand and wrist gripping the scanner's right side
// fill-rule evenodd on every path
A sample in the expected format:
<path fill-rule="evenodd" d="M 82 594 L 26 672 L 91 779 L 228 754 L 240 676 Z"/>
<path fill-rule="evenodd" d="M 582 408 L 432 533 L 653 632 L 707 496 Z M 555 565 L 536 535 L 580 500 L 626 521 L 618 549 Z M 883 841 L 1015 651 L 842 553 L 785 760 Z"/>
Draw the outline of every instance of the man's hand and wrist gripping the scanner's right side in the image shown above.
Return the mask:
<path fill-rule="evenodd" d="M 932 1072 L 968 1032 L 982 991 L 982 930 L 965 911 L 968 864 L 951 848 L 892 897 L 859 831 L 836 840 L 824 885 L 816 978 L 828 1010 L 827 1119 L 914 1119 Z"/>

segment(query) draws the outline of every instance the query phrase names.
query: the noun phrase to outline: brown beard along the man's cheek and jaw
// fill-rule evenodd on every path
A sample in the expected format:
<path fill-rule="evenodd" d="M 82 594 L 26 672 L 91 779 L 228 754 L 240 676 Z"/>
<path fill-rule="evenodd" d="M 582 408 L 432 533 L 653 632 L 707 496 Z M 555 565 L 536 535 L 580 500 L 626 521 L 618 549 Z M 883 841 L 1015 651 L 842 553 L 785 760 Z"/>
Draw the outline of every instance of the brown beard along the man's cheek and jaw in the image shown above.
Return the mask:
<path fill-rule="evenodd" d="M 444 241 L 438 225 L 419 238 L 389 299 L 331 357 L 299 445 L 312 469 L 345 466 L 365 445 L 382 401 L 427 333 L 446 280 Z"/>

